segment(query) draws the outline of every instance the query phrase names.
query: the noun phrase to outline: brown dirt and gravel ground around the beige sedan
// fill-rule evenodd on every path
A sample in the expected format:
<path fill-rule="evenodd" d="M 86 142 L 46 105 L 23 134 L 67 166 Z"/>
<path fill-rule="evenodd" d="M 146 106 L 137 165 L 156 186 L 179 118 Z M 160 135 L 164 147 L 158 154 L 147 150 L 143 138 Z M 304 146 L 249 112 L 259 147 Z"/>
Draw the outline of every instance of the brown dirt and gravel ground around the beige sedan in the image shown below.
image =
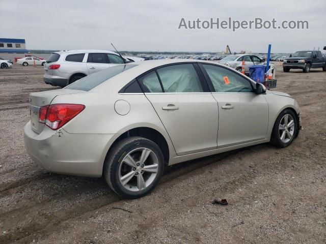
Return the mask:
<path fill-rule="evenodd" d="M 53 89 L 41 67 L 0 70 L 0 243 L 326 243 L 326 72 L 283 73 L 304 130 L 167 170 L 142 199 L 102 178 L 48 173 L 26 154 L 30 92 Z M 229 205 L 214 205 L 214 198 Z"/>

